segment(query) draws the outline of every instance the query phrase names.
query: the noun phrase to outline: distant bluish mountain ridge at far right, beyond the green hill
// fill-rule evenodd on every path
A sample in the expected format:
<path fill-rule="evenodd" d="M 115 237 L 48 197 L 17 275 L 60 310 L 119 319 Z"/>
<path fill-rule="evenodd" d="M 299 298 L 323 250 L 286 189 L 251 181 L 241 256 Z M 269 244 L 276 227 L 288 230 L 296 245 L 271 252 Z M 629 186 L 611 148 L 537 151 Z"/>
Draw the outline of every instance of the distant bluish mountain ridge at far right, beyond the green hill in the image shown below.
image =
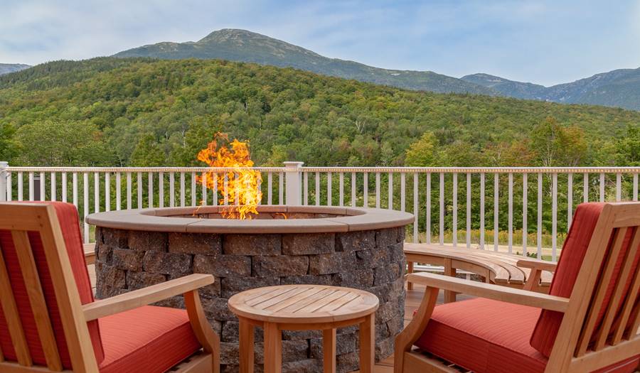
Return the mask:
<path fill-rule="evenodd" d="M 491 88 L 508 97 L 640 110 L 640 68 L 603 72 L 551 87 L 516 82 L 488 74 L 466 75 L 461 79 Z"/>

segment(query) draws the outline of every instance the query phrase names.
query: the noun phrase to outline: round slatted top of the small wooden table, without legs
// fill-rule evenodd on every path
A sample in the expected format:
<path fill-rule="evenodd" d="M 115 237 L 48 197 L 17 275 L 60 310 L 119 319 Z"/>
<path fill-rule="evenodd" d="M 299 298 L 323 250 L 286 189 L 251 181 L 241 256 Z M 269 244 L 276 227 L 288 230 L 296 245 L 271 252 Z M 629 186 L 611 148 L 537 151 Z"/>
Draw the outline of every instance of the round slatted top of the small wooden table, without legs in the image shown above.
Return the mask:
<path fill-rule="evenodd" d="M 369 315 L 378 297 L 367 291 L 325 285 L 255 288 L 229 298 L 238 316 L 269 323 L 332 323 Z"/>

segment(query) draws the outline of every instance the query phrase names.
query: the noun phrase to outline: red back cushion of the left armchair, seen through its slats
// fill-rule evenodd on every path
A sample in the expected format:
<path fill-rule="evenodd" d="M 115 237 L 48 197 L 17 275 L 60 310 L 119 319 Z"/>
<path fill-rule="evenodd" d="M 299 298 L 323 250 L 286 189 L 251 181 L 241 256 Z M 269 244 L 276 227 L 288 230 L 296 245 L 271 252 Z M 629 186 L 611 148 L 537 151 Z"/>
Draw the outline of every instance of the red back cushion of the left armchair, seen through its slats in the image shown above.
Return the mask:
<path fill-rule="evenodd" d="M 87 272 L 87 264 L 85 263 L 85 254 L 82 247 L 78 211 L 75 209 L 75 206 L 70 203 L 44 203 L 53 205 L 55 213 L 58 215 L 58 221 L 60 222 L 60 228 L 62 229 L 63 237 L 65 239 L 69 261 L 71 262 L 71 269 L 73 270 L 75 283 L 78 286 L 78 293 L 80 293 L 80 302 L 82 302 L 82 304 L 91 303 L 93 301 L 93 293 L 91 290 L 91 283 L 89 281 L 89 274 Z M 60 360 L 62 360 L 63 367 L 66 369 L 72 369 L 63 325 L 60 321 L 60 311 L 58 310 L 58 303 L 55 301 L 53 282 L 51 281 L 49 269 L 46 263 L 40 234 L 37 232 L 28 232 L 28 236 L 29 241 L 31 242 L 31 248 L 33 249 L 33 256 L 36 260 L 36 267 L 38 269 L 38 275 L 40 276 L 45 301 L 49 310 L 49 318 L 53 324 L 53 333 L 55 334 L 55 340 L 58 344 Z M 0 249 L 4 256 L 4 261 L 6 262 L 7 272 L 11 281 L 11 288 L 14 291 L 16 306 L 18 307 L 22 327 L 26 335 L 29 351 L 31 352 L 31 359 L 33 359 L 33 362 L 36 364 L 46 365 L 40 337 L 38 337 L 36 321 L 33 318 L 31 304 L 29 303 L 20 264 L 18 263 L 18 257 L 16 256 L 16 247 L 14 247 L 10 231 L 0 229 Z M 98 363 L 100 363 L 104 359 L 104 352 L 102 351 L 102 344 L 100 342 L 100 330 L 98 329 L 97 320 L 88 323 L 88 327 L 93 350 L 95 351 Z M 2 348 L 2 352 L 4 353 L 6 360 L 16 360 L 16 352 L 11 343 L 11 335 L 9 335 L 9 330 L 7 329 L 4 312 L 0 312 L 0 347 Z"/>

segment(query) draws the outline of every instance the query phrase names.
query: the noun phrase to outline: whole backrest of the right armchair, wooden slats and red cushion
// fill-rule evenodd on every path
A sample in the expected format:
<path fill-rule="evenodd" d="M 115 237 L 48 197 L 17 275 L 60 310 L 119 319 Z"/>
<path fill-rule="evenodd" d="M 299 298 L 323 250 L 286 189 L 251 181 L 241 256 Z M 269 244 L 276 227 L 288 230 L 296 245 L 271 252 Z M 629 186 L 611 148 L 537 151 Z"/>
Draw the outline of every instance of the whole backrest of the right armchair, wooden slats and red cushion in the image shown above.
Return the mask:
<path fill-rule="evenodd" d="M 588 372 L 639 354 L 639 226 L 637 202 L 577 207 L 550 287 L 569 308 L 543 310 L 531 337 L 549 367 Z"/>

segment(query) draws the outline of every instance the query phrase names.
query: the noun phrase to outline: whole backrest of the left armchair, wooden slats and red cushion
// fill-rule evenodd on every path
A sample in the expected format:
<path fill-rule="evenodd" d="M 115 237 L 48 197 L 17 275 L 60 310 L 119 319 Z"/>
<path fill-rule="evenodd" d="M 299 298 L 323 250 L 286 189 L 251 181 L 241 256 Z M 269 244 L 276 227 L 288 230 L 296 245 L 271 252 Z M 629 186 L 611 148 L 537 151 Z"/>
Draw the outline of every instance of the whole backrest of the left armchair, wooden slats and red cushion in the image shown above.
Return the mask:
<path fill-rule="evenodd" d="M 2 364 L 90 371 L 102 360 L 78 211 L 63 202 L 0 203 Z"/>

